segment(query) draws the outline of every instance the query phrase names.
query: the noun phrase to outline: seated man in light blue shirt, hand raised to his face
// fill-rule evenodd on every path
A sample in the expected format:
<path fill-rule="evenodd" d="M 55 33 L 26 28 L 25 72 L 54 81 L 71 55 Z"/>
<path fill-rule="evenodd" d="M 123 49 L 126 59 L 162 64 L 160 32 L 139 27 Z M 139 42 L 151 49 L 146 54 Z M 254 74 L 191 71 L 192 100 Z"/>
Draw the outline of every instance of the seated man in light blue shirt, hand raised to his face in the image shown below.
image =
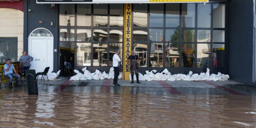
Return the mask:
<path fill-rule="evenodd" d="M 13 64 L 10 61 L 10 59 L 7 59 L 6 64 L 4 65 L 4 76 L 9 78 L 9 88 L 12 88 L 13 77 L 16 78 L 16 86 L 18 86 L 18 83 L 20 81 L 20 75 L 16 72 Z"/>

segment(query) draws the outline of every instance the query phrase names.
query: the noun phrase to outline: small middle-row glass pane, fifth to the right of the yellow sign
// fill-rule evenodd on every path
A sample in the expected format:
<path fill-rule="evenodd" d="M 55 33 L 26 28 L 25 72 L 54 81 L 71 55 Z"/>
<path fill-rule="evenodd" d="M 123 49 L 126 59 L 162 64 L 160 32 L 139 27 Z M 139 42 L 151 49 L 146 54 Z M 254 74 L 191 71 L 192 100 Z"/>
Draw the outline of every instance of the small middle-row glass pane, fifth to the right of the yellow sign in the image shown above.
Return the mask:
<path fill-rule="evenodd" d="M 197 42 L 211 42 L 211 30 L 197 30 Z"/>

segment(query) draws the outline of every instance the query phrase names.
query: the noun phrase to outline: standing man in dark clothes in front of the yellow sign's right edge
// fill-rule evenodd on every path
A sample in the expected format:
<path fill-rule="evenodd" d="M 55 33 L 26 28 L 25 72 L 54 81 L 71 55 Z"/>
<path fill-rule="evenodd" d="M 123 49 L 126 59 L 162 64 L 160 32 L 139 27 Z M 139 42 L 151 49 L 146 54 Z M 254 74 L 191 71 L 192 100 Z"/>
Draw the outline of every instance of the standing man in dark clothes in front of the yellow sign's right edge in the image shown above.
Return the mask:
<path fill-rule="evenodd" d="M 139 57 L 138 55 L 135 55 L 134 51 L 131 52 L 131 55 L 128 57 L 127 63 L 130 65 L 130 72 L 131 72 L 131 76 L 132 76 L 132 83 L 134 83 L 133 81 L 133 76 L 134 76 L 134 72 L 136 75 L 136 79 L 137 79 L 137 83 L 140 84 L 139 81 L 139 72 L 138 72 L 138 62 L 139 62 Z"/>

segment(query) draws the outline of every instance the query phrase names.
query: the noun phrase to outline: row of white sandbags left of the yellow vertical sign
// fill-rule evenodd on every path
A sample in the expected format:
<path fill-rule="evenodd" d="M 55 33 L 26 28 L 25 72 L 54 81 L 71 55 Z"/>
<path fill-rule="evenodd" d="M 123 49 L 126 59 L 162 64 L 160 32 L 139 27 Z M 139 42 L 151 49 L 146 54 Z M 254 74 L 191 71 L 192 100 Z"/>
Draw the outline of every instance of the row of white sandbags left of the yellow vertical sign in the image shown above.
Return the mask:
<path fill-rule="evenodd" d="M 100 72 L 100 70 L 96 70 L 95 72 L 91 73 L 85 68 L 82 69 L 84 74 L 79 72 L 78 70 L 74 70 L 76 73 L 75 76 L 72 76 L 70 80 L 104 80 L 104 79 L 114 79 L 114 68 L 110 68 L 109 74 L 107 74 L 105 71 Z M 123 72 L 120 72 L 118 79 L 122 79 Z"/>

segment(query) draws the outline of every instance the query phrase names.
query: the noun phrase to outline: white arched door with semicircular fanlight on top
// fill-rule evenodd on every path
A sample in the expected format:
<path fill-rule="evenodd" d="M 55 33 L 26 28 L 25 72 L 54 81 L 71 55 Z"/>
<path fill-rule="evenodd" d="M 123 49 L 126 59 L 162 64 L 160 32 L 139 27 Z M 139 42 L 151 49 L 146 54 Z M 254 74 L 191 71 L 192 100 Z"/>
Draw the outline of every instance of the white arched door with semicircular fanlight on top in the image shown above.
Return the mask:
<path fill-rule="evenodd" d="M 53 36 L 43 28 L 34 30 L 29 37 L 28 54 L 34 58 L 31 68 L 36 72 L 44 72 L 44 68 L 53 70 Z"/>

